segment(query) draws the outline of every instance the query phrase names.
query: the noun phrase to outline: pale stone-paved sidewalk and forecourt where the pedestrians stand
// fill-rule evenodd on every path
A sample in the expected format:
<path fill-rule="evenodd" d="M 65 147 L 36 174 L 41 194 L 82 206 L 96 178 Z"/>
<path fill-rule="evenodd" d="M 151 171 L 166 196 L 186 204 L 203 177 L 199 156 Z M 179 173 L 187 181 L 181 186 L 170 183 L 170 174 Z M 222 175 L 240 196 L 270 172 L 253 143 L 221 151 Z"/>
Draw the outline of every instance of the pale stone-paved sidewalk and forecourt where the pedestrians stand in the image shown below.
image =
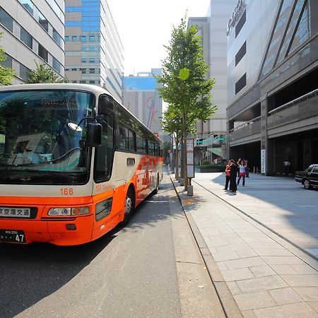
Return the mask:
<path fill-rule="evenodd" d="M 232 195 L 224 180 L 197 173 L 194 196 L 174 182 L 220 271 L 213 283 L 226 282 L 244 317 L 318 317 L 317 191 L 251 175 Z"/>

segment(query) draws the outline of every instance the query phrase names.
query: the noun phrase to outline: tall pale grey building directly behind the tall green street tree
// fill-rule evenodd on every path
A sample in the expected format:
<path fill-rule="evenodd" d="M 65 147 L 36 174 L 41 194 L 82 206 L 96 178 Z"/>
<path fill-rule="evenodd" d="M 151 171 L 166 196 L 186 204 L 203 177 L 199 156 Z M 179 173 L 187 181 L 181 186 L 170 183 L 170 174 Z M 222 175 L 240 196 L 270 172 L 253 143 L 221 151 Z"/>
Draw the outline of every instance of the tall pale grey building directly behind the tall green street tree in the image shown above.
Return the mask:
<path fill-rule="evenodd" d="M 225 146 L 222 147 L 222 143 L 226 133 L 228 102 L 226 28 L 236 3 L 237 0 L 211 0 L 206 17 L 190 17 L 188 20 L 188 28 L 197 25 L 198 34 L 202 36 L 204 60 L 210 66 L 207 77 L 216 79 L 211 93 L 212 101 L 218 110 L 208 122 L 199 121 L 196 124 L 198 144 L 204 145 L 206 148 L 204 151 L 201 149 L 201 154 L 210 161 L 216 157 L 225 157 Z"/>

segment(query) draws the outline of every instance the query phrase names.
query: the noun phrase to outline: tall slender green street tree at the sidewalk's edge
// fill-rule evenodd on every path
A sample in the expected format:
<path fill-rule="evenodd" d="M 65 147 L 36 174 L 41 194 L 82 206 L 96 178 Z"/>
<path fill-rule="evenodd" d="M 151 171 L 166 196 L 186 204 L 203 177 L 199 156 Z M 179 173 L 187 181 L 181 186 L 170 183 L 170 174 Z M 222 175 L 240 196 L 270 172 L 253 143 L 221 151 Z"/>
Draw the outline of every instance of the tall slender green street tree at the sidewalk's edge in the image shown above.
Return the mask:
<path fill-rule="evenodd" d="M 163 74 L 158 76 L 160 96 L 168 105 L 178 110 L 182 123 L 182 159 L 184 184 L 187 187 L 187 156 L 184 146 L 187 132 L 196 121 L 211 119 L 217 107 L 211 102 L 213 78 L 207 78 L 208 65 L 198 28 L 193 25 L 187 30 L 186 17 L 180 25 L 173 27 L 167 57 L 163 61 Z"/>

